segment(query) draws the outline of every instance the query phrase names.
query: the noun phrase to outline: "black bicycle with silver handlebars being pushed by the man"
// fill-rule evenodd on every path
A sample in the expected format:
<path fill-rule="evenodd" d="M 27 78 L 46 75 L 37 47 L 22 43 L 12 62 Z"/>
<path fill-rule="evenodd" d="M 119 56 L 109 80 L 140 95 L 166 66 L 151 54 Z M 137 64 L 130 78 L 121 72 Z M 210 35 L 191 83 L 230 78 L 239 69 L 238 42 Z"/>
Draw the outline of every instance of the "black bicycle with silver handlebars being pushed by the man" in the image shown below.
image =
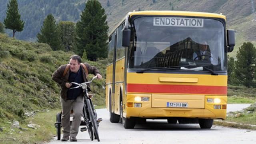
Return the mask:
<path fill-rule="evenodd" d="M 82 87 L 82 89 L 84 90 L 84 107 L 82 112 L 83 113 L 82 121 L 86 124 L 86 127 L 80 128 L 80 131 L 84 132 L 87 130 L 91 140 L 97 139 L 98 142 L 100 142 L 100 137 L 98 134 L 98 126 L 99 126 L 99 123 L 102 121 L 102 119 L 97 118 L 96 110 L 94 109 L 94 106 L 92 104 L 92 99 L 91 99 L 92 95 L 89 95 L 87 90 L 87 84 L 90 84 L 95 78 L 97 78 L 97 76 L 94 76 L 92 80 L 88 82 L 84 82 L 82 84 L 71 82 L 71 84 L 76 84 L 77 86 L 70 89 Z M 55 123 L 55 127 L 57 128 L 58 140 L 60 140 L 60 127 L 61 127 L 60 119 L 61 119 L 61 113 L 58 113 L 56 116 L 56 123 Z"/>

